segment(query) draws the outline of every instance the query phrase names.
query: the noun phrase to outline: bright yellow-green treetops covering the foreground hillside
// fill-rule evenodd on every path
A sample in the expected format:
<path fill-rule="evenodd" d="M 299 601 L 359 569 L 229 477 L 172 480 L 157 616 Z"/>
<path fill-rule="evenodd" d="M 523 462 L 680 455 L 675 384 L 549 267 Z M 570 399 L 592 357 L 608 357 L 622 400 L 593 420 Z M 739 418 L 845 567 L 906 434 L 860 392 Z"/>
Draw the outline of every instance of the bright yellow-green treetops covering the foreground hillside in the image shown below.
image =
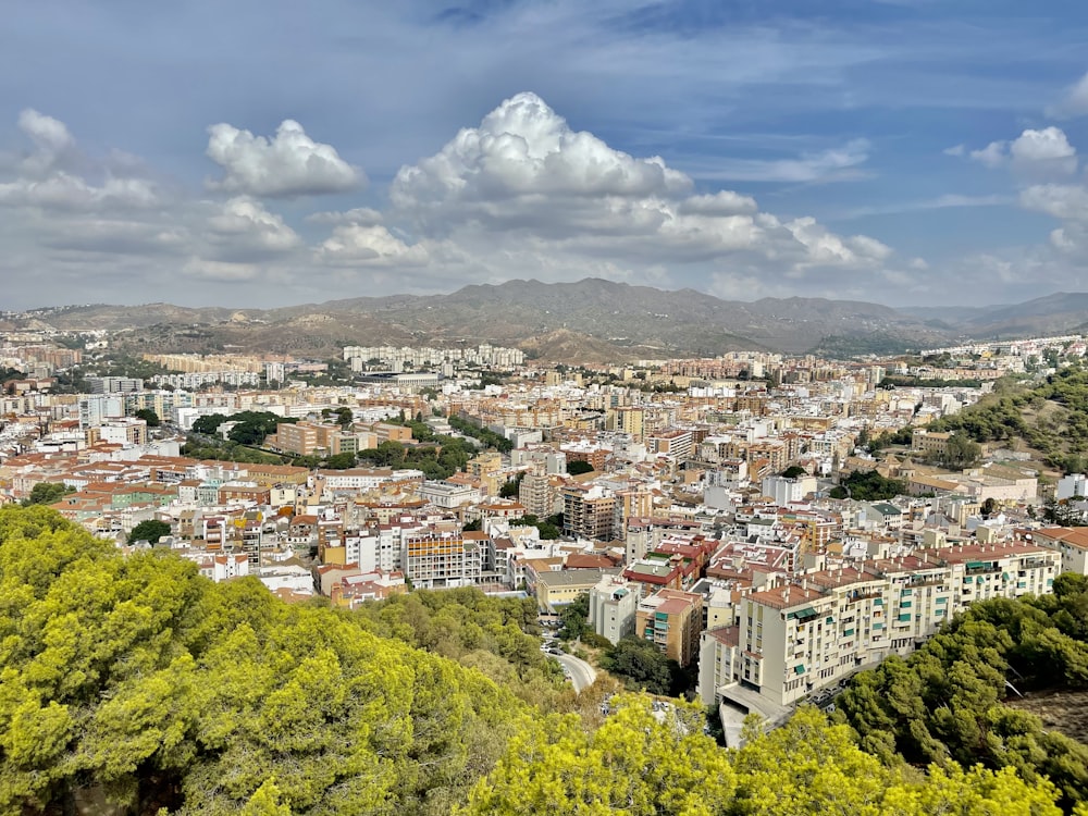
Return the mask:
<path fill-rule="evenodd" d="M 527 615 L 470 593 L 287 606 L 0 509 L 0 814 L 1061 813 L 1012 768 L 881 765 L 811 708 L 739 752 L 679 702 L 545 713 L 467 665 L 496 650 L 548 688 Z"/>

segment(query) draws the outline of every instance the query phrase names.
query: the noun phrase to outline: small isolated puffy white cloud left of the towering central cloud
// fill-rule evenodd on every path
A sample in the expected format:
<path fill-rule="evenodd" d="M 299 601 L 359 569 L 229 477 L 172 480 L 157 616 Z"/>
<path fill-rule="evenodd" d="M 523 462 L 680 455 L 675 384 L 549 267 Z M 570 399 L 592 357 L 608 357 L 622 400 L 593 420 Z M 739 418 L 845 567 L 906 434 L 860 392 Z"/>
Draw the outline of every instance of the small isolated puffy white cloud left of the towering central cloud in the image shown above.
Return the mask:
<path fill-rule="evenodd" d="M 224 171 L 208 183 L 211 189 L 289 198 L 346 193 L 366 183 L 362 170 L 294 120 L 284 120 L 271 140 L 226 123 L 209 127 L 208 136 L 207 156 Z"/>

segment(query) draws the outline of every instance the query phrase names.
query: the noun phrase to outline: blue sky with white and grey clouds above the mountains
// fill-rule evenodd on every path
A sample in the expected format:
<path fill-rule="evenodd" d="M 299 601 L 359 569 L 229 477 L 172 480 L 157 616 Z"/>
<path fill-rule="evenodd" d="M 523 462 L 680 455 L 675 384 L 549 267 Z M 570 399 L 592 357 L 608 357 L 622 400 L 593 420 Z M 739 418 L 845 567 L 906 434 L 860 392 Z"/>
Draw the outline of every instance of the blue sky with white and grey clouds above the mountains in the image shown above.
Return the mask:
<path fill-rule="evenodd" d="M 0 25 L 0 309 L 604 277 L 1088 290 L 1088 4 L 52 0 Z"/>

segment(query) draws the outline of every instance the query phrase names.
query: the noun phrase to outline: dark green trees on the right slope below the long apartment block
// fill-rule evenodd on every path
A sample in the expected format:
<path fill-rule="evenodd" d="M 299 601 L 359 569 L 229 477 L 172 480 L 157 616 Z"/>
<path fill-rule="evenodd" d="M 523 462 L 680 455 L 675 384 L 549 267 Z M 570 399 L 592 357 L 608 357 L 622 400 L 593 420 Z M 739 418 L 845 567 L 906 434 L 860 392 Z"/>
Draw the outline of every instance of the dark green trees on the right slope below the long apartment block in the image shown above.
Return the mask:
<path fill-rule="evenodd" d="M 1011 680 L 1016 692 L 1005 685 Z M 1048 777 L 1066 805 L 1088 800 L 1088 745 L 1002 703 L 1006 694 L 1088 689 L 1088 579 L 1053 595 L 973 605 L 906 659 L 858 675 L 836 716 L 885 763 L 948 758 Z"/>

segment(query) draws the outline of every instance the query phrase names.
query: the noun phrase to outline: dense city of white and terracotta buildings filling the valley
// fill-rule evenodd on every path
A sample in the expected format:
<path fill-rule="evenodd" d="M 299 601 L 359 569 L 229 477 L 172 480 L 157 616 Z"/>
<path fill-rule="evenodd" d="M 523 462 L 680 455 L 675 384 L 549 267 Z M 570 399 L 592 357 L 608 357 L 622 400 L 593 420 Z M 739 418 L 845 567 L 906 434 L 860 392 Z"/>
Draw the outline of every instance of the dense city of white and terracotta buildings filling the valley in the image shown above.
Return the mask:
<path fill-rule="evenodd" d="M 954 434 L 927 430 L 1004 375 L 1083 358 L 1080 336 L 849 363 L 147 355 L 161 373 L 146 379 L 96 374 L 109 335 L 81 337 L 2 339 L 0 502 L 54 489 L 53 508 L 126 552 L 166 547 L 287 601 L 478 586 L 528 593 L 548 619 L 588 594 L 598 635 L 697 665 L 733 738 L 744 712 L 827 704 L 976 599 L 1088 571 L 1088 534 L 1043 512 L 1081 511 L 1083 474 L 1040 480 L 996 445 L 952 466 Z M 76 369 L 81 393 L 61 386 Z M 444 440 L 471 453 L 443 459 Z M 865 474 L 902 491 L 858 497 Z M 149 521 L 161 535 L 133 535 Z"/>

